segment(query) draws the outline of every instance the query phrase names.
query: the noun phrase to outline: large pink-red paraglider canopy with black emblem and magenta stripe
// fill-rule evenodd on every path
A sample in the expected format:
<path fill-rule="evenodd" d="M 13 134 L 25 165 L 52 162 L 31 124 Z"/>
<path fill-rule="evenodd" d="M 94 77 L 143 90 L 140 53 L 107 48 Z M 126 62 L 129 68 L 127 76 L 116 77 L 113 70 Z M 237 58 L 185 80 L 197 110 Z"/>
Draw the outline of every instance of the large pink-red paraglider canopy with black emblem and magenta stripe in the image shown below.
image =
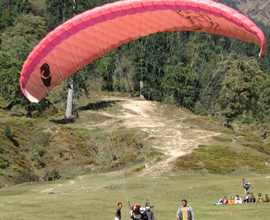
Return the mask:
<path fill-rule="evenodd" d="M 123 0 L 88 10 L 51 31 L 29 54 L 21 89 L 39 102 L 56 85 L 109 51 L 165 31 L 233 37 L 265 48 L 263 32 L 246 16 L 212 0 Z"/>

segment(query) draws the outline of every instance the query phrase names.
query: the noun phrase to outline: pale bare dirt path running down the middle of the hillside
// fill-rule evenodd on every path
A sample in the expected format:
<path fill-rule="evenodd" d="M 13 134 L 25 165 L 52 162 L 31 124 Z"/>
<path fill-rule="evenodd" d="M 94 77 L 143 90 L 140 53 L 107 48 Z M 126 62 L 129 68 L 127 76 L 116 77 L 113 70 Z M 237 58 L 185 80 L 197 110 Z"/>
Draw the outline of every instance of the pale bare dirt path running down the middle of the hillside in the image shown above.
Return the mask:
<path fill-rule="evenodd" d="M 190 128 L 182 123 L 181 112 L 172 120 L 155 102 L 138 99 L 121 99 L 121 119 L 127 128 L 141 128 L 148 134 L 153 149 L 165 155 L 160 162 L 146 161 L 146 168 L 140 175 L 171 169 L 172 163 L 180 156 L 192 152 L 199 144 L 209 143 L 217 132 Z M 181 110 L 179 110 L 181 111 Z M 180 122 L 179 122 L 180 121 Z M 147 140 L 146 140 L 147 141 Z"/>

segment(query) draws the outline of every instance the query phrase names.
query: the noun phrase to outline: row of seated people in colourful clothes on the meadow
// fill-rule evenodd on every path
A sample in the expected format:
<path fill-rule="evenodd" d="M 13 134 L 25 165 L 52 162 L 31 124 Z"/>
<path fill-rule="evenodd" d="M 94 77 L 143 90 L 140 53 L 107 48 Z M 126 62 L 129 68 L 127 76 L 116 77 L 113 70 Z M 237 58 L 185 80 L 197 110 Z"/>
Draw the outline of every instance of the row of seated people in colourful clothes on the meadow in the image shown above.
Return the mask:
<path fill-rule="evenodd" d="M 224 197 L 223 199 L 220 199 L 215 205 L 242 204 L 254 202 L 269 202 L 269 196 L 265 194 L 265 197 L 263 197 L 261 193 L 258 193 L 258 198 L 256 199 L 253 193 L 251 193 L 250 196 L 246 193 L 244 199 L 242 200 L 239 195 L 236 195 L 235 198 L 230 195 L 229 199 L 227 199 L 227 197 Z"/>

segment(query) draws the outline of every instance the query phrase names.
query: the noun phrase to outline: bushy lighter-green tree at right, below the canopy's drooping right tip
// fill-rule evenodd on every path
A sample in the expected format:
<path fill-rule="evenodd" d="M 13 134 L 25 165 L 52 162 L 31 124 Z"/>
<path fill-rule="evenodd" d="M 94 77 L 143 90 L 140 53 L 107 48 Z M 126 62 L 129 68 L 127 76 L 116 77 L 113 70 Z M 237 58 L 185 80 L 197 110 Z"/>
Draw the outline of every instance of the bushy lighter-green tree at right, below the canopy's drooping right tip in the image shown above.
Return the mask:
<path fill-rule="evenodd" d="M 219 98 L 227 124 L 244 111 L 256 118 L 258 109 L 261 108 L 258 102 L 262 92 L 261 85 L 266 78 L 266 74 L 253 58 L 233 62 L 222 82 Z"/>

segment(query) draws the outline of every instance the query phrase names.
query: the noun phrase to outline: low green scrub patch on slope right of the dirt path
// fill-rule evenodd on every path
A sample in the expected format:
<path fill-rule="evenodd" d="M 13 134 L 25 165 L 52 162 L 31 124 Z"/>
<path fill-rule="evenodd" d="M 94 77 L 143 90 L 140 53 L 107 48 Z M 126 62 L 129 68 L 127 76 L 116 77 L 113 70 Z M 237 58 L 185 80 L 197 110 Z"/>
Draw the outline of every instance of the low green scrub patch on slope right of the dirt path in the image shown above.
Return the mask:
<path fill-rule="evenodd" d="M 178 158 L 173 170 L 200 170 L 205 168 L 214 174 L 227 174 L 235 171 L 239 166 L 248 166 L 250 171 L 269 173 L 266 165 L 269 157 L 252 155 L 247 152 L 236 152 L 228 146 L 199 145 L 191 154 Z"/>

